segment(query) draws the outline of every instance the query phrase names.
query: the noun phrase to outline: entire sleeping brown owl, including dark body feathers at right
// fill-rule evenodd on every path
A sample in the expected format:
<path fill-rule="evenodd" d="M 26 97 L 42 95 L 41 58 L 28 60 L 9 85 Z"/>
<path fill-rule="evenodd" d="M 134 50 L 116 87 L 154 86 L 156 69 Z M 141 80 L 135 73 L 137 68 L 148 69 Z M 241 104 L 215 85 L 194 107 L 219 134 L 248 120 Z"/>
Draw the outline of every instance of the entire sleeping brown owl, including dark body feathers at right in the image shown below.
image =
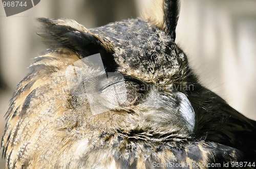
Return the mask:
<path fill-rule="evenodd" d="M 253 168 L 256 122 L 198 83 L 178 6 L 95 29 L 39 18 L 49 49 L 10 101 L 6 168 Z"/>

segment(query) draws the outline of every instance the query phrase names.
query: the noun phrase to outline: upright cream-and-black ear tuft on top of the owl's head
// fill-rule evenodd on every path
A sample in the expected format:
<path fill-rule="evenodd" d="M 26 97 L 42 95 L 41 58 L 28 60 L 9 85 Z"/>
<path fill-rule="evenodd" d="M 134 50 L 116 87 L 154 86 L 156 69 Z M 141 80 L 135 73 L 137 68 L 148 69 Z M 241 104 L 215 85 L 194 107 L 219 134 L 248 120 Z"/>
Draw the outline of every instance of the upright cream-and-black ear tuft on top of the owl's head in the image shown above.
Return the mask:
<path fill-rule="evenodd" d="M 153 12 L 143 12 L 142 17 L 164 30 L 175 41 L 179 2 L 177 0 L 154 0 L 153 4 Z"/>

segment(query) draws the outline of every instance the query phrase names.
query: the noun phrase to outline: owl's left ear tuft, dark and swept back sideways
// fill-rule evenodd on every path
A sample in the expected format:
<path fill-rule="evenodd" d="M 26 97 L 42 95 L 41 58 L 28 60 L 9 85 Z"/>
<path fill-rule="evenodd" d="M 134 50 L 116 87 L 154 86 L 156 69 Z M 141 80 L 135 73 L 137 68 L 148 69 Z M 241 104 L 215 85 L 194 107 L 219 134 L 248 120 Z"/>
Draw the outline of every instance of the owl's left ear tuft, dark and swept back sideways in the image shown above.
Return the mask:
<path fill-rule="evenodd" d="M 71 19 L 38 18 L 41 23 L 39 36 L 52 49 L 69 48 L 81 58 L 96 53 L 111 52 L 111 45 L 90 32 L 86 27 Z"/>

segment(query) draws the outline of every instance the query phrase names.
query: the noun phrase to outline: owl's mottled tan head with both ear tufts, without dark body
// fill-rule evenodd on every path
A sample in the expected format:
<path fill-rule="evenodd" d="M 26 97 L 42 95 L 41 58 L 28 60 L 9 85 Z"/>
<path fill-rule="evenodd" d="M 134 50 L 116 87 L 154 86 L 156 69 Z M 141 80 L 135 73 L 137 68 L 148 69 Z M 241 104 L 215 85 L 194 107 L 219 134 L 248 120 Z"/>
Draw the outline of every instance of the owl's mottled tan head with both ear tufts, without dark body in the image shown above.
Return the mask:
<path fill-rule="evenodd" d="M 110 147 L 172 147 L 197 133 L 188 97 L 196 78 L 175 44 L 178 3 L 157 8 L 90 30 L 74 20 L 38 19 L 49 48 L 11 99 L 2 139 L 8 166 L 79 167 L 81 159 L 93 166 L 93 150 L 112 153 L 103 163 L 116 155 Z"/>

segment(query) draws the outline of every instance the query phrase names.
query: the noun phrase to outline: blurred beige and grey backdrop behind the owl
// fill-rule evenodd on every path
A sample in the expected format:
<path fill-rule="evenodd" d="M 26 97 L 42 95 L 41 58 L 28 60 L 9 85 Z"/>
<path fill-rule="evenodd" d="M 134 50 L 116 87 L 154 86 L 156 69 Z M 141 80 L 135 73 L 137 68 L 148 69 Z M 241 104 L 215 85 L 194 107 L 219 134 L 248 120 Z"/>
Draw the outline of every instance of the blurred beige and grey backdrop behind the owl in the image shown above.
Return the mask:
<path fill-rule="evenodd" d="M 37 17 L 71 18 L 87 28 L 136 18 L 151 0 L 42 0 L 6 17 L 0 4 L 0 135 L 15 86 L 45 46 Z M 201 83 L 256 120 L 256 1 L 181 0 L 177 44 Z M 2 154 L 2 152 L 1 152 Z M 4 168 L 4 160 L 0 168 Z"/>

